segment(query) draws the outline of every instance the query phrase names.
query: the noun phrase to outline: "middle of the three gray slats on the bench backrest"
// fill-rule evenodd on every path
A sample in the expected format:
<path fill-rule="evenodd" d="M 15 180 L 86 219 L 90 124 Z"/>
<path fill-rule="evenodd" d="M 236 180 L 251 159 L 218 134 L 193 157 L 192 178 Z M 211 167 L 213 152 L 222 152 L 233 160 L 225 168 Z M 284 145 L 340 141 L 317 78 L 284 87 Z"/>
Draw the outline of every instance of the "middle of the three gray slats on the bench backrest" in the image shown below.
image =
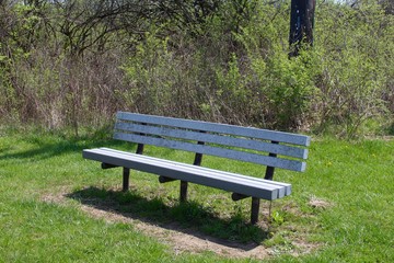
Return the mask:
<path fill-rule="evenodd" d="M 141 133 L 144 135 L 169 136 L 171 138 L 211 142 L 216 145 L 239 147 L 251 150 L 266 151 L 288 157 L 308 158 L 308 149 L 259 141 L 251 138 L 236 138 L 217 134 L 207 134 L 167 126 L 150 126 L 138 123 L 116 123 L 115 133 Z M 171 139 L 169 138 L 169 139 Z"/>

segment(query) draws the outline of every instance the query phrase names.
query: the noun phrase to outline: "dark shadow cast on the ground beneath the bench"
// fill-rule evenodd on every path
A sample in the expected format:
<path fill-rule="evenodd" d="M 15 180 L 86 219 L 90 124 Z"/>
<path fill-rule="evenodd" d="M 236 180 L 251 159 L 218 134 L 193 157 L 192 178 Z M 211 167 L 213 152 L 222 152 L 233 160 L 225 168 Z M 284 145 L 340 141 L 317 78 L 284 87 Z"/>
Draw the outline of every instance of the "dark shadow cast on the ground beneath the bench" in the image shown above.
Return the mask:
<path fill-rule="evenodd" d="M 242 251 L 253 250 L 269 238 L 269 231 L 258 225 L 251 225 L 236 215 L 229 219 L 220 218 L 193 201 L 174 202 L 170 206 L 160 198 L 148 199 L 132 191 L 125 193 L 94 186 L 66 194 L 66 197 L 94 209 Z"/>

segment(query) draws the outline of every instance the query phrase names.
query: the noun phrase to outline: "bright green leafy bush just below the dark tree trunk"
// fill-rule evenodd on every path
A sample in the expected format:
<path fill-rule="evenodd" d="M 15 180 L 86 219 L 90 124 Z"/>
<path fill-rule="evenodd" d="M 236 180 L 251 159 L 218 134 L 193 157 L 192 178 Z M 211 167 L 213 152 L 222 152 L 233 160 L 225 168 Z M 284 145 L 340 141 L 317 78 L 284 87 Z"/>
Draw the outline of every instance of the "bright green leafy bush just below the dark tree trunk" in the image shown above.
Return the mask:
<path fill-rule="evenodd" d="M 289 61 L 283 53 L 279 53 L 268 61 L 267 99 L 273 122 L 278 122 L 279 128 L 301 128 L 310 122 L 310 110 L 317 94 L 313 55 L 303 52 Z"/>

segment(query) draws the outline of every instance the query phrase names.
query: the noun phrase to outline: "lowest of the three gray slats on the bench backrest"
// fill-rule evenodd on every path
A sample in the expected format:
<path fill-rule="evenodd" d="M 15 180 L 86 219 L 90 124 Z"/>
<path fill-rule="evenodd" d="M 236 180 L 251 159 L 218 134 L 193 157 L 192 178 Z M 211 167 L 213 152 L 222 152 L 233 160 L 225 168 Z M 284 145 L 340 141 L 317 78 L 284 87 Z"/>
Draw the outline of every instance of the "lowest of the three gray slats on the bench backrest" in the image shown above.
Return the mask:
<path fill-rule="evenodd" d="M 154 145 L 171 149 L 179 149 L 179 150 L 186 150 L 192 152 L 198 152 L 202 155 L 209 155 L 209 156 L 217 156 L 217 157 L 223 157 L 229 158 L 233 160 L 240 160 L 240 161 L 246 161 L 246 162 L 253 162 L 258 163 L 263 165 L 269 165 L 269 167 L 276 167 L 281 169 L 288 169 L 292 171 L 299 171 L 303 172 L 305 170 L 305 162 L 297 161 L 297 160 L 287 160 L 281 158 L 275 158 L 269 156 L 262 156 L 251 152 L 242 152 L 236 151 L 232 149 L 224 149 L 224 148 L 217 148 L 206 145 L 197 145 L 197 144 L 190 144 L 185 141 L 177 141 L 177 140 L 166 140 L 163 138 L 154 138 L 154 137 L 147 137 L 142 135 L 136 135 L 136 134 L 121 134 L 116 133 L 114 135 L 115 139 L 121 139 L 126 141 L 132 141 L 137 144 L 148 144 L 148 145 Z"/>

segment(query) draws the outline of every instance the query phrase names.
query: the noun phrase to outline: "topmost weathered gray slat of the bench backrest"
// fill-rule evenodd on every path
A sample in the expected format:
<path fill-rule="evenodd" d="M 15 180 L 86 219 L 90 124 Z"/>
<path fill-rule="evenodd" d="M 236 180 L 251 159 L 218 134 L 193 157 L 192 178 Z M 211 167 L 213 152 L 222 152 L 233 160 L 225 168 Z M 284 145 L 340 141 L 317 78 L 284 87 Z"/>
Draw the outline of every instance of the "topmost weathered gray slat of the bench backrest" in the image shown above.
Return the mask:
<path fill-rule="evenodd" d="M 241 126 L 228 125 L 228 124 L 216 124 L 216 123 L 208 123 L 201 121 L 181 119 L 173 117 L 162 117 L 154 115 L 137 114 L 137 113 L 126 113 L 126 112 L 118 112 L 117 118 L 124 121 L 130 121 L 130 122 L 153 124 L 153 125 L 173 126 L 173 127 L 181 127 L 181 128 L 195 129 L 195 130 L 206 130 L 210 133 L 220 133 L 220 134 L 258 138 L 264 140 L 274 140 L 274 141 L 299 145 L 299 146 L 310 145 L 309 136 L 268 130 L 268 129 L 258 129 L 258 128 L 241 127 Z"/>

